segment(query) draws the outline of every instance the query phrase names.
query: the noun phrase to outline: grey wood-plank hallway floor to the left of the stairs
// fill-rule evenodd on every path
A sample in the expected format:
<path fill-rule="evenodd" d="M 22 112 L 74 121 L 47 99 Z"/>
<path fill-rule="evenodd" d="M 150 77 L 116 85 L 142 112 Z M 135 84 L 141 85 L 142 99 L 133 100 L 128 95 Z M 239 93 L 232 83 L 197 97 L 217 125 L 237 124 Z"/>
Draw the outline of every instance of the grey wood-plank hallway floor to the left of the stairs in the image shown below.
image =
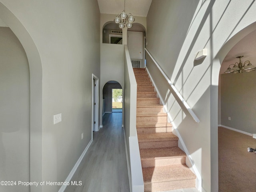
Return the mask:
<path fill-rule="evenodd" d="M 129 192 L 129 179 L 122 128 L 122 113 L 103 116 L 103 128 L 93 133 L 86 152 L 65 192 Z M 80 182 L 80 183 L 81 183 Z"/>

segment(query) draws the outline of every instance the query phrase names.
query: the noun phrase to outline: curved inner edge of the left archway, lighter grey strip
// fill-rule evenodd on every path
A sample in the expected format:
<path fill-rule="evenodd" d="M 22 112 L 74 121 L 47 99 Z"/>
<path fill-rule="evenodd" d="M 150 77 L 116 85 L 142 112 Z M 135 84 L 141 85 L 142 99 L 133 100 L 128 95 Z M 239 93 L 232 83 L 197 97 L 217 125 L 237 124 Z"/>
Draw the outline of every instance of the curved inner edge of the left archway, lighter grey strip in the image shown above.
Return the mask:
<path fill-rule="evenodd" d="M 42 62 L 38 49 L 23 24 L 0 2 L 0 18 L 22 44 L 30 72 L 30 181 L 42 181 Z M 42 186 L 30 186 L 41 192 Z"/>

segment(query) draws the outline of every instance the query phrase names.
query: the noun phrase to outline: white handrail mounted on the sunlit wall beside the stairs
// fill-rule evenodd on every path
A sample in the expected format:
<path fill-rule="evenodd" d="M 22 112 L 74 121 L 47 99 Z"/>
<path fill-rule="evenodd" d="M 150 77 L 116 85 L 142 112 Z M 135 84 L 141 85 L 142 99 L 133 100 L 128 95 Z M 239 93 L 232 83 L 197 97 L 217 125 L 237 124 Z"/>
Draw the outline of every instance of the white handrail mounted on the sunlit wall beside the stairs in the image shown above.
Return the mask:
<path fill-rule="evenodd" d="M 190 115 L 192 116 L 192 118 L 199 123 L 200 120 L 198 119 L 198 117 L 196 116 L 196 114 L 192 111 L 192 109 L 190 108 L 190 106 L 188 106 L 187 102 L 184 100 L 184 98 L 181 96 L 181 94 L 178 92 L 178 90 L 174 87 L 174 85 L 172 84 L 172 82 L 170 81 L 170 79 L 166 76 L 166 74 L 164 73 L 164 71 L 160 68 L 160 66 L 158 65 L 158 63 L 156 62 L 156 60 L 154 60 L 154 58 L 152 57 L 152 55 L 150 54 L 150 52 L 148 52 L 148 50 L 145 48 L 146 52 L 148 53 L 148 55 L 150 56 L 150 58 L 152 59 L 152 61 L 156 64 L 157 68 L 160 70 L 160 72 L 162 73 L 162 75 L 164 76 L 164 78 L 166 79 L 166 81 L 168 82 L 168 84 L 171 86 L 172 90 L 174 91 L 174 93 L 178 96 L 178 98 L 180 99 L 181 103 L 183 104 L 183 106 L 186 108 L 186 110 L 190 113 Z M 179 102 L 178 102 L 179 103 Z"/>

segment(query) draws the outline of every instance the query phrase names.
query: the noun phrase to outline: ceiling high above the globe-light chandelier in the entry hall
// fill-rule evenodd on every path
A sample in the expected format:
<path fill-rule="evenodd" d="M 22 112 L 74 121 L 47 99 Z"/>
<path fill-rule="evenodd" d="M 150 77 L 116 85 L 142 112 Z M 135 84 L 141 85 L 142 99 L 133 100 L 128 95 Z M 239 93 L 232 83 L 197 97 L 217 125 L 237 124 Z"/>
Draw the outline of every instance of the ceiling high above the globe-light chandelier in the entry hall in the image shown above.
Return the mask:
<path fill-rule="evenodd" d="M 133 16 L 146 17 L 152 0 L 125 0 L 125 12 Z M 120 14 L 124 10 L 124 0 L 98 0 L 100 13 Z"/>

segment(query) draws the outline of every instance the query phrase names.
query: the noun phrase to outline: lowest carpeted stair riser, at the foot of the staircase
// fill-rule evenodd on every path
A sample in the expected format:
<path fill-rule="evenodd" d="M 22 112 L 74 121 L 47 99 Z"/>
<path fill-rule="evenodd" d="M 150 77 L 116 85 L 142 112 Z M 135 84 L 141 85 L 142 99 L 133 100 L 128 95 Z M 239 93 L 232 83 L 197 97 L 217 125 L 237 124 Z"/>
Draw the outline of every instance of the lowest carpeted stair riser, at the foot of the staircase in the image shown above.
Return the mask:
<path fill-rule="evenodd" d="M 196 180 L 194 179 L 159 182 L 159 183 L 146 183 L 144 184 L 144 192 L 177 190 L 180 188 L 192 188 L 192 187 L 195 187 L 195 185 L 196 185 Z"/>

